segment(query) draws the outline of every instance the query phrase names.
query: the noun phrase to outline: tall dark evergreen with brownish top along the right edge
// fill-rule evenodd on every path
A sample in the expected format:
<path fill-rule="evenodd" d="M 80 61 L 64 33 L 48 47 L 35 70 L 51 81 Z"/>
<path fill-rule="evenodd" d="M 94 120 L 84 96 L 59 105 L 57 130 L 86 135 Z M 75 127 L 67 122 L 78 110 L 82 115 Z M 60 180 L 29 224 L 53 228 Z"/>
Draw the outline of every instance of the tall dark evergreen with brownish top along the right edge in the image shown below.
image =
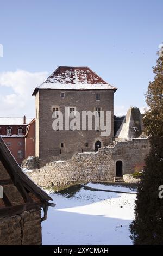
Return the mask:
<path fill-rule="evenodd" d="M 135 220 L 130 225 L 135 245 L 163 245 L 163 54 L 157 60 L 154 81 L 149 82 L 144 117 L 145 132 L 151 143 L 150 153 L 138 186 Z M 163 193 L 162 193 L 163 195 Z"/>

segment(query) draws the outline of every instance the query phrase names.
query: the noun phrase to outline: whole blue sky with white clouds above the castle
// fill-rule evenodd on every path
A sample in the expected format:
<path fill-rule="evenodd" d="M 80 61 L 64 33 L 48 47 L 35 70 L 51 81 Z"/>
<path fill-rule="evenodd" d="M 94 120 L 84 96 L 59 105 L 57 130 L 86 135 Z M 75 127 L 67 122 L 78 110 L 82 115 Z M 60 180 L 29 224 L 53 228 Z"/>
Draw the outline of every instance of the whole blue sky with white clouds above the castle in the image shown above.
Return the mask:
<path fill-rule="evenodd" d="M 34 117 L 33 89 L 57 66 L 89 66 L 118 88 L 115 114 L 144 107 L 163 41 L 162 0 L 3 0 L 0 116 Z"/>

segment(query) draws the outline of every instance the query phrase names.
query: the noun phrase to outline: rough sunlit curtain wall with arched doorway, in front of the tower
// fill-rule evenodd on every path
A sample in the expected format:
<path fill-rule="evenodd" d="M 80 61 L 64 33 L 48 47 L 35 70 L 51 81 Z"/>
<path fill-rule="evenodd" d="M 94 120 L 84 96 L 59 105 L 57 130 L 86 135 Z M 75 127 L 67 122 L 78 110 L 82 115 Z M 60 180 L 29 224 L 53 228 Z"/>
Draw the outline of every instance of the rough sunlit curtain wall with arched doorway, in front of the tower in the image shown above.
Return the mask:
<path fill-rule="evenodd" d="M 76 153 L 67 161 L 47 163 L 26 172 L 39 186 L 62 186 L 79 182 L 114 182 L 116 162 L 122 161 L 123 174 L 142 170 L 149 152 L 148 139 L 115 141 L 97 153 Z"/>

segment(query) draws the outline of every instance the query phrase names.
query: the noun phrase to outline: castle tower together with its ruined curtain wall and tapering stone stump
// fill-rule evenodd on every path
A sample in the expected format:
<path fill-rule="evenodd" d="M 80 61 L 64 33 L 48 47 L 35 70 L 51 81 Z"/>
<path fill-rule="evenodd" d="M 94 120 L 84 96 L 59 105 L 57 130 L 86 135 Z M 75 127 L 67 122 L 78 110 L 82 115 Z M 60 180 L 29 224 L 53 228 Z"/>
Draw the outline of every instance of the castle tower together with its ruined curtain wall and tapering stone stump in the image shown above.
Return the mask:
<path fill-rule="evenodd" d="M 115 117 L 116 89 L 89 68 L 59 67 L 34 90 L 36 157 L 27 159 L 24 167 L 36 169 L 39 158 L 42 167 L 28 172 L 37 184 L 62 186 L 91 181 L 121 182 L 124 174 L 143 169 L 149 141 L 143 134 L 142 115 L 139 108 L 130 107 L 125 117 Z M 73 117 L 76 111 L 96 110 L 98 117 L 101 111 L 110 112 L 110 134 L 101 136 L 100 129 L 53 130 L 52 115 L 59 113 L 56 111 L 64 113 L 65 106 L 70 115 L 74 114 Z"/>

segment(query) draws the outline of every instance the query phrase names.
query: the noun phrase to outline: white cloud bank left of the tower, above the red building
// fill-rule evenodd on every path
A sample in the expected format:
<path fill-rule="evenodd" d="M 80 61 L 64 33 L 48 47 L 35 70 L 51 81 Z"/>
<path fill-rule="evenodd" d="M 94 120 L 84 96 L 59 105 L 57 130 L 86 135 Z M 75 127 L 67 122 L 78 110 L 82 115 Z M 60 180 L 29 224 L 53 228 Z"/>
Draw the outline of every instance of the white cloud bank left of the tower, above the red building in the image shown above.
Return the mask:
<path fill-rule="evenodd" d="M 35 87 L 43 83 L 47 77 L 48 72 L 32 73 L 26 70 L 0 73 L 0 115 L 21 117 L 25 114 L 34 117 L 32 93 Z"/>

